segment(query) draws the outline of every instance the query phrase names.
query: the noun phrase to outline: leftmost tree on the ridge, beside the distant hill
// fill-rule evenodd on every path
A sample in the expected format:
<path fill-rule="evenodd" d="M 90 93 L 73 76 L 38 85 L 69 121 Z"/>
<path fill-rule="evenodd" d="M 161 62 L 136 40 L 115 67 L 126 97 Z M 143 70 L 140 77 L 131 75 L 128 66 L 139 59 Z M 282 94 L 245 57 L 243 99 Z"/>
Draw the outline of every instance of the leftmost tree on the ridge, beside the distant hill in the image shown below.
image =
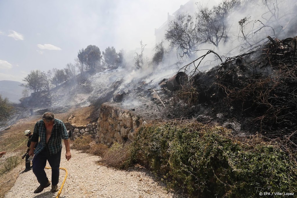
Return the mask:
<path fill-rule="evenodd" d="M 38 92 L 42 89 L 42 80 L 43 74 L 39 69 L 31 70 L 30 74 L 28 74 L 23 81 L 27 84 L 24 85 L 26 88 L 34 90 L 34 92 Z"/>

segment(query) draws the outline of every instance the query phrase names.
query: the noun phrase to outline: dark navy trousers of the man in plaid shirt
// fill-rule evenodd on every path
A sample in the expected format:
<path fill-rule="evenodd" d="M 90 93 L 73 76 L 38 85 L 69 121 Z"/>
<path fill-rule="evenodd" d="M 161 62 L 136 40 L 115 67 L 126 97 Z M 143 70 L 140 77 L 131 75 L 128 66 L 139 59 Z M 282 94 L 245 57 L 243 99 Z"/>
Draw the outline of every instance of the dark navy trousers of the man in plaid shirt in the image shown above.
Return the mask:
<path fill-rule="evenodd" d="M 62 149 L 58 153 L 50 156 L 50 153 L 44 148 L 40 153 L 34 156 L 32 161 L 33 172 L 41 186 L 45 186 L 48 183 L 48 178 L 44 171 L 46 160 L 48 160 L 52 168 L 52 185 L 59 183 L 61 151 Z"/>

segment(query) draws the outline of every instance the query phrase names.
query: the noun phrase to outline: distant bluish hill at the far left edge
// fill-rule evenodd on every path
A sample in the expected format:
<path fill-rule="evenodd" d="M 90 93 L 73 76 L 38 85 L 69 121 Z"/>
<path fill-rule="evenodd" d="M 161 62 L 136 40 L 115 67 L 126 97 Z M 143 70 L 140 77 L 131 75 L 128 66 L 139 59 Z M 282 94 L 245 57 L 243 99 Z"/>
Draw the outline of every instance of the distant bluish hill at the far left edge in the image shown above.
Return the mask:
<path fill-rule="evenodd" d="M 19 86 L 23 83 L 12 80 L 0 80 L 0 94 L 2 97 L 7 97 L 10 102 L 20 102 L 22 98 L 23 87 Z"/>

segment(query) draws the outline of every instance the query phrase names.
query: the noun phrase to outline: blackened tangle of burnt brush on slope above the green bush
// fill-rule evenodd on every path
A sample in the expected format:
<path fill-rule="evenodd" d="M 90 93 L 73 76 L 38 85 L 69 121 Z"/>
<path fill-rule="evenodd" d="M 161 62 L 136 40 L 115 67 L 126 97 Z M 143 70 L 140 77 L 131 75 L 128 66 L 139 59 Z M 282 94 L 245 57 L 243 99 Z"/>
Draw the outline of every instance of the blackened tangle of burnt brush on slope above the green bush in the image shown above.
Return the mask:
<path fill-rule="evenodd" d="M 296 41 L 296 37 L 269 37 L 252 52 L 227 58 L 208 72 L 192 74 L 175 97 L 183 99 L 185 107 L 206 104 L 213 115 L 222 113 L 229 120 L 240 116 L 254 132 L 291 134 L 296 127 Z"/>

